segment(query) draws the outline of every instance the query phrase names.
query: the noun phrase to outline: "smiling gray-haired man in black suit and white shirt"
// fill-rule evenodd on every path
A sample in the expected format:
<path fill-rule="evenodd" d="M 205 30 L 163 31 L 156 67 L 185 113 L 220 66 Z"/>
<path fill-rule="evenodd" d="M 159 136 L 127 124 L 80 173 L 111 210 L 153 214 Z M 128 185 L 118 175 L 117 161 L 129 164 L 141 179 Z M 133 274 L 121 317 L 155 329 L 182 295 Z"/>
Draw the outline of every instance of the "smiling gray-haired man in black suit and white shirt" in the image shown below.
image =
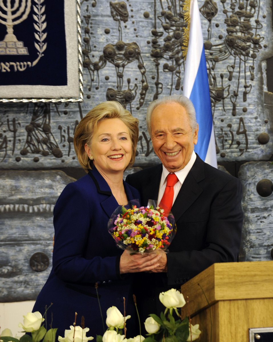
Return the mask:
<path fill-rule="evenodd" d="M 139 190 L 141 205 L 147 206 L 149 199 L 161 201 L 169 173 L 178 178 L 171 207 L 177 232 L 169 253 L 151 260 L 155 261 L 153 269 L 144 278 L 138 277 L 139 287 L 143 279 L 146 288 L 139 295 L 149 293 L 144 299 L 148 314 L 161 311 L 157 301 L 161 291 L 179 289 L 215 262 L 237 260 L 243 212 L 240 181 L 206 164 L 193 151 L 198 124 L 187 97 L 173 95 L 153 101 L 146 121 L 162 164 L 128 175 L 126 182 Z"/>

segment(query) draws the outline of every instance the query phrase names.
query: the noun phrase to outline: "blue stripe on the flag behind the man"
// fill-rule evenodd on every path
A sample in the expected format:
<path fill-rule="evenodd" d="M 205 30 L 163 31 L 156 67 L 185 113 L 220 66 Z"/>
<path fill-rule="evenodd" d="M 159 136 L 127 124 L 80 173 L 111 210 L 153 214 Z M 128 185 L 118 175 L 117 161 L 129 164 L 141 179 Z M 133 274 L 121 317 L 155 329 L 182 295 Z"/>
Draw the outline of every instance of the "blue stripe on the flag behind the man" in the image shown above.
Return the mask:
<path fill-rule="evenodd" d="M 195 107 L 196 119 L 199 124 L 198 142 L 194 150 L 202 160 L 205 160 L 213 122 L 204 47 L 201 53 L 196 79 L 190 94 L 190 100 Z"/>

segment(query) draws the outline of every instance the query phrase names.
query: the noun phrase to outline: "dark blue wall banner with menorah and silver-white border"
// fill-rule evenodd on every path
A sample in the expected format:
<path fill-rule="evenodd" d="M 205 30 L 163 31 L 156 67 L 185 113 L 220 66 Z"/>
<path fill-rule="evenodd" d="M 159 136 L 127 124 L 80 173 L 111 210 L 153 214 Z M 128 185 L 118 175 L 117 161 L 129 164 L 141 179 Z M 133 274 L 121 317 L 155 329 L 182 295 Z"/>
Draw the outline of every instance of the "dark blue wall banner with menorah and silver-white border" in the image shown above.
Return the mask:
<path fill-rule="evenodd" d="M 77 15 L 76 0 L 0 1 L 1 98 L 80 97 Z"/>

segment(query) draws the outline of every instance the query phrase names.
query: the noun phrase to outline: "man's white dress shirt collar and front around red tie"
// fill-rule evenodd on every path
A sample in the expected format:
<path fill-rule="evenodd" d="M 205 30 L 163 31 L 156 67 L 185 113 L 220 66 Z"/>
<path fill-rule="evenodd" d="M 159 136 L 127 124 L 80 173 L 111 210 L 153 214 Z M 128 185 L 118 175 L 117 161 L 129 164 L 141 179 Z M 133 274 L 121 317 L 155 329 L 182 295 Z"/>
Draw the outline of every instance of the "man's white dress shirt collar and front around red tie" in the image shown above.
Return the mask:
<path fill-rule="evenodd" d="M 183 184 L 183 182 L 185 181 L 185 178 L 187 177 L 188 173 L 190 172 L 190 169 L 192 168 L 194 162 L 196 160 L 196 153 L 193 151 L 192 155 L 190 157 L 189 162 L 187 163 L 187 165 L 184 167 L 184 169 L 179 170 L 174 172 L 179 180 L 179 182 L 177 182 L 174 187 L 173 187 L 173 203 L 179 193 L 179 190 L 181 189 L 181 186 Z M 165 167 L 164 165 L 162 165 L 163 170 L 162 170 L 162 175 L 161 175 L 161 180 L 160 180 L 160 185 L 159 185 L 159 191 L 158 191 L 158 198 L 157 198 L 157 203 L 160 203 L 161 198 L 163 197 L 165 188 L 166 188 L 166 184 L 167 184 L 167 176 L 170 173 Z M 172 173 L 172 172 L 171 172 Z M 172 204 L 173 204 L 172 203 Z"/>

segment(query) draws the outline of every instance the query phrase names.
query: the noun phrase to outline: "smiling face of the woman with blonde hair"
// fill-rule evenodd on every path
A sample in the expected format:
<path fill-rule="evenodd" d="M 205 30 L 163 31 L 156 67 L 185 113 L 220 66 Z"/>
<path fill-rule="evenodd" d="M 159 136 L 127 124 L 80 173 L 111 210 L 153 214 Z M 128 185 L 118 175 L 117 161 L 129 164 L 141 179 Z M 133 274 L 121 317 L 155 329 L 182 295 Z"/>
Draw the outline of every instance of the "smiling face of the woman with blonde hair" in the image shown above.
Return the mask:
<path fill-rule="evenodd" d="M 123 172 L 132 157 L 132 141 L 126 124 L 118 118 L 104 119 L 97 125 L 90 147 L 85 145 L 89 158 L 102 174 Z"/>

